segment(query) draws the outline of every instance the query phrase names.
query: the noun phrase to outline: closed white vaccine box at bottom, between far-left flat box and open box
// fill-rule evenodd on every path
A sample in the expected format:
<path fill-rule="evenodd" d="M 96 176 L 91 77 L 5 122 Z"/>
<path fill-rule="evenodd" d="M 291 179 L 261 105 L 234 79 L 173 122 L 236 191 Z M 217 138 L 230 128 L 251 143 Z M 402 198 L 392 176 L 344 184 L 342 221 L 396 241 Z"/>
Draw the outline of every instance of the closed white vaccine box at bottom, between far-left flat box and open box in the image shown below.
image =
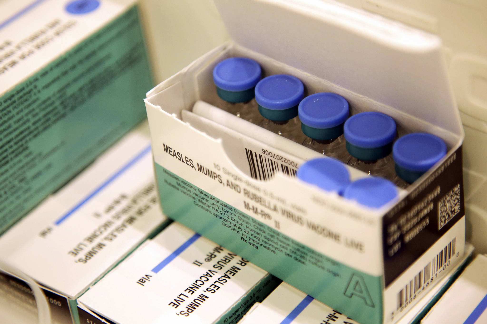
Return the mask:
<path fill-rule="evenodd" d="M 280 282 L 173 222 L 90 288 L 78 304 L 117 324 L 235 324 Z M 85 318 L 80 322 L 87 323 Z"/>

